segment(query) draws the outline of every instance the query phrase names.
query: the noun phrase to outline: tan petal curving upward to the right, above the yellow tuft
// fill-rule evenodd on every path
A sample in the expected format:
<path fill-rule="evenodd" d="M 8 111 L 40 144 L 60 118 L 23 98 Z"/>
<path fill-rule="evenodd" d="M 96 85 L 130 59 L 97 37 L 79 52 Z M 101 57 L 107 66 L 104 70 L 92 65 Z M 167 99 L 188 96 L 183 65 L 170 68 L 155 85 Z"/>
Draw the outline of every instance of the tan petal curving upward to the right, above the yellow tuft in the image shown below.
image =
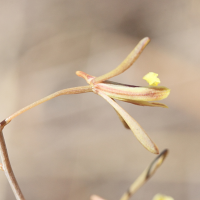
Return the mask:
<path fill-rule="evenodd" d="M 137 60 L 149 42 L 150 39 L 148 37 L 143 38 L 117 68 L 108 72 L 107 74 L 95 78 L 93 83 L 103 82 L 126 71 Z"/>

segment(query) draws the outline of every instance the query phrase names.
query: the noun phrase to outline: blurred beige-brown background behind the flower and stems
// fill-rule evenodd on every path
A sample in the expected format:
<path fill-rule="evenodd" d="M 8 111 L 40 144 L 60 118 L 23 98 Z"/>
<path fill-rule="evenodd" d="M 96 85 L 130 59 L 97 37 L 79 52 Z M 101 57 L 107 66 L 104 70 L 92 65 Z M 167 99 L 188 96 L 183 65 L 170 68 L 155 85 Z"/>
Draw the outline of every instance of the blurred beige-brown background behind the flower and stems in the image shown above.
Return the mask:
<path fill-rule="evenodd" d="M 159 74 L 168 109 L 119 104 L 169 155 L 132 199 L 164 193 L 200 198 L 200 2 L 198 0 L 0 1 L 0 117 L 57 90 L 86 85 L 77 70 L 114 69 L 145 36 L 132 68 L 112 80 L 146 86 Z M 27 200 L 116 200 L 155 158 L 124 129 L 113 108 L 87 93 L 57 97 L 4 129 Z M 3 172 L 0 199 L 15 199 Z"/>

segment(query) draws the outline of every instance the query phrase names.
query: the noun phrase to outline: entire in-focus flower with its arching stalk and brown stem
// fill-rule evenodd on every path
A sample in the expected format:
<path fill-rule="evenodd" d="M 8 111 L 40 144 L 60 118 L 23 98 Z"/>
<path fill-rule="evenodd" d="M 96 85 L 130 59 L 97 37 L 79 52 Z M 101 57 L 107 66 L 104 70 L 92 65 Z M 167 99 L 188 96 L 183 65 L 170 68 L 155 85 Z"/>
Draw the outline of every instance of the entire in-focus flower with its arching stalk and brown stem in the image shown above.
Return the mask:
<path fill-rule="evenodd" d="M 13 113 L 9 117 L 5 118 L 0 122 L 0 157 L 2 164 L 0 163 L 0 170 L 3 170 L 10 185 L 14 192 L 16 199 L 24 200 L 24 196 L 21 192 L 21 189 L 17 183 L 15 175 L 13 173 L 10 160 L 8 157 L 8 152 L 6 149 L 6 144 L 3 136 L 4 127 L 9 124 L 15 117 L 21 115 L 22 113 L 32 109 L 39 104 L 42 104 L 46 101 L 49 101 L 55 97 L 68 94 L 80 94 L 86 92 L 94 92 L 99 96 L 103 97 L 111 106 L 115 109 L 117 114 L 120 117 L 120 120 L 123 122 L 126 128 L 132 130 L 139 142 L 150 152 L 158 154 L 158 147 L 154 142 L 149 138 L 145 133 L 142 127 L 116 102 L 116 100 L 121 100 L 129 103 L 133 103 L 140 106 L 152 106 L 152 107 L 167 107 L 164 104 L 151 102 L 162 100 L 169 95 L 170 90 L 166 87 L 157 86 L 160 80 L 157 78 L 157 74 L 150 73 L 144 77 L 150 86 L 148 87 L 139 87 L 121 83 L 115 83 L 108 81 L 108 79 L 117 76 L 124 71 L 126 71 L 131 65 L 136 61 L 139 55 L 142 53 L 146 45 L 149 43 L 149 38 L 142 39 L 138 45 L 133 49 L 133 51 L 127 56 L 127 58 L 114 70 L 104 74 L 100 77 L 95 77 L 88 75 L 84 72 L 77 71 L 76 74 L 80 77 L 83 77 L 89 85 L 80 86 L 74 88 L 67 88 L 60 91 L 57 91 L 49 96 L 46 96 L 34 103 L 20 109 L 19 111 Z"/>

